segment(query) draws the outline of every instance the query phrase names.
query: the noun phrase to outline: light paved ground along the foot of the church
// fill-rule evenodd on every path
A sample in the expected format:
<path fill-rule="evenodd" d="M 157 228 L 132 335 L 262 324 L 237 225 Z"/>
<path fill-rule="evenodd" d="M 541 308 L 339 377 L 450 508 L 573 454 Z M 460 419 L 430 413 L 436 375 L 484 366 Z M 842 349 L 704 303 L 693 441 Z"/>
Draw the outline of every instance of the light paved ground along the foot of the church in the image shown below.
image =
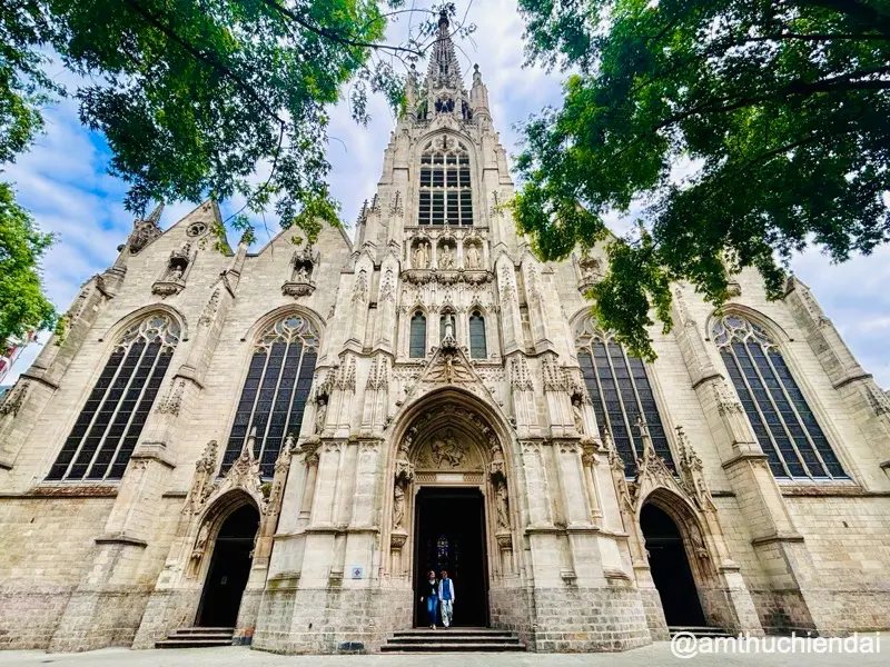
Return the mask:
<path fill-rule="evenodd" d="M 873 637 L 873 635 L 872 635 Z M 877 654 L 808 653 L 795 655 L 699 655 L 688 659 L 675 657 L 671 644 L 661 641 L 621 654 L 432 654 L 397 656 L 278 656 L 249 648 L 189 648 L 177 650 L 127 650 L 109 648 L 82 654 L 46 654 L 43 651 L 0 651 L 2 667 L 661 667 L 694 665 L 696 667 L 886 667 L 890 665 L 890 634 L 883 634 L 873 646 Z M 769 648 L 767 645 L 765 648 Z M 689 650 L 689 649 L 686 649 Z"/>

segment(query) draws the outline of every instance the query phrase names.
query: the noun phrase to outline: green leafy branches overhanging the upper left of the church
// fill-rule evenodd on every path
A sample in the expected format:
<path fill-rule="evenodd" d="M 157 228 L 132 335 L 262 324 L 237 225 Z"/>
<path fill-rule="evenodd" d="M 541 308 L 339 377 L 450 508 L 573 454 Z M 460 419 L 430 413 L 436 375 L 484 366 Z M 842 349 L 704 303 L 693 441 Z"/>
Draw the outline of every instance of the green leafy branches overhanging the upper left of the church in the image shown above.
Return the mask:
<path fill-rule="evenodd" d="M 339 225 L 330 106 L 346 91 L 359 122 L 373 93 L 400 109 L 402 72 L 435 39 L 438 9 L 456 12 L 403 0 L 0 0 L 0 169 L 40 133 L 46 103 L 70 92 L 105 135 L 129 210 L 238 198 L 227 222 L 241 231 L 247 212 L 274 211 L 317 233 L 319 220 Z M 408 36 L 386 43 L 398 20 Z M 56 58 L 85 83 L 55 82 Z"/>

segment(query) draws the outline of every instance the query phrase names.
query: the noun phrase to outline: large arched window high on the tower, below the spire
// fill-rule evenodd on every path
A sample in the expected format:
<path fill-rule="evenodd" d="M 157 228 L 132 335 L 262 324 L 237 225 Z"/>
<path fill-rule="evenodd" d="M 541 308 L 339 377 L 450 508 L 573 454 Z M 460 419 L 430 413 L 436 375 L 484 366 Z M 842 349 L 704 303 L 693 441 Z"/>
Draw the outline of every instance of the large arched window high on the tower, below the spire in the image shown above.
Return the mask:
<path fill-rule="evenodd" d="M 418 225 L 473 225 L 469 153 L 459 141 L 442 136 L 421 156 Z"/>

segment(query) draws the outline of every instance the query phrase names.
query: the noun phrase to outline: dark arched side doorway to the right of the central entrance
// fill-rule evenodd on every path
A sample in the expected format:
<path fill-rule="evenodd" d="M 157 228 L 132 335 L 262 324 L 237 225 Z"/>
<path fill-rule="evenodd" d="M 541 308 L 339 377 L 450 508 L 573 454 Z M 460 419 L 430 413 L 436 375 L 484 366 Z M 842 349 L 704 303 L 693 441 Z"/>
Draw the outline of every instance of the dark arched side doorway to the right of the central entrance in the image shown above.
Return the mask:
<path fill-rule="evenodd" d="M 644 505 L 640 510 L 640 527 L 668 625 L 704 626 L 699 589 L 676 524 L 654 505 Z"/>

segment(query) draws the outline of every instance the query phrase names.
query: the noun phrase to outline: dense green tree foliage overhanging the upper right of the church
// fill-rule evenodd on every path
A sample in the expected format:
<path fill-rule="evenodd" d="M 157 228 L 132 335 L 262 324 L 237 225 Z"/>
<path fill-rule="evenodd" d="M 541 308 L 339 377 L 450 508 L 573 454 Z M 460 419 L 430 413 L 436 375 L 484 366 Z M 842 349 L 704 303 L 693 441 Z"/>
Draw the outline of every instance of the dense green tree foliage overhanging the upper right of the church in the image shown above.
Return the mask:
<path fill-rule="evenodd" d="M 781 295 L 810 243 L 834 261 L 890 235 L 886 0 L 520 0 L 531 61 L 570 70 L 561 109 L 524 127 L 521 229 L 546 259 L 609 239 L 590 297 L 652 358 L 673 281 L 728 298 L 758 268 Z M 683 166 L 679 168 L 678 166 Z"/>

